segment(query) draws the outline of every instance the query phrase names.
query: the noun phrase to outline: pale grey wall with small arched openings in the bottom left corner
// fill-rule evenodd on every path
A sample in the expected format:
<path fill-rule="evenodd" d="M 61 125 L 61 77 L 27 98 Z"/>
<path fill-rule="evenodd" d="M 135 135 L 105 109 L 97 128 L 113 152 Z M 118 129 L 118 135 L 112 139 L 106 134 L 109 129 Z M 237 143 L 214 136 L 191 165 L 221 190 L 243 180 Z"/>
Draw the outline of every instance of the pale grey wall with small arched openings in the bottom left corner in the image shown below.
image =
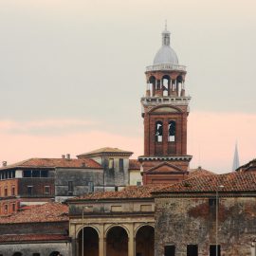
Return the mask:
<path fill-rule="evenodd" d="M 52 251 L 59 251 L 63 256 L 71 255 L 70 243 L 31 243 L 31 244 L 9 244 L 0 246 L 0 254 L 12 256 L 14 252 L 21 252 L 23 256 L 32 256 L 40 253 L 40 256 L 49 256 Z"/>

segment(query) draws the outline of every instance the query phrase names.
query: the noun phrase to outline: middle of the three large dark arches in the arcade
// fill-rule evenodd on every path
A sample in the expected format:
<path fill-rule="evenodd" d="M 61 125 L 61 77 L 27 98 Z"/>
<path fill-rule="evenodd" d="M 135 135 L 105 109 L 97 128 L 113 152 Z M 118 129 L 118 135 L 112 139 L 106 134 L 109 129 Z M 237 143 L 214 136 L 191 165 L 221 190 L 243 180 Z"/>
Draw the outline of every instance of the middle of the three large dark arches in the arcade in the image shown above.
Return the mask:
<path fill-rule="evenodd" d="M 108 230 L 106 256 L 128 256 L 128 234 L 122 227 L 113 227 Z"/>

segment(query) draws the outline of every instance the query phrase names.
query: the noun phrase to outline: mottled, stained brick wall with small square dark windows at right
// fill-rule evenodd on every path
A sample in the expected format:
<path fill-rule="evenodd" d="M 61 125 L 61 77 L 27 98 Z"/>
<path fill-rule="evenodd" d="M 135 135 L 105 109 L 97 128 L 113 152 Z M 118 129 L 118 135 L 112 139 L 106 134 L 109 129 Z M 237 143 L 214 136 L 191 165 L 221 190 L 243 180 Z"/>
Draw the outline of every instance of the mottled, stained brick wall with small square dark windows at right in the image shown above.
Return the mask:
<path fill-rule="evenodd" d="M 214 197 L 212 197 L 214 199 Z M 256 197 L 223 197 L 219 205 L 218 237 L 221 255 L 251 255 L 256 239 Z M 187 255 L 187 245 L 198 245 L 198 255 L 208 256 L 216 239 L 215 207 L 209 198 L 155 198 L 155 256 L 166 245 L 176 256 Z"/>

